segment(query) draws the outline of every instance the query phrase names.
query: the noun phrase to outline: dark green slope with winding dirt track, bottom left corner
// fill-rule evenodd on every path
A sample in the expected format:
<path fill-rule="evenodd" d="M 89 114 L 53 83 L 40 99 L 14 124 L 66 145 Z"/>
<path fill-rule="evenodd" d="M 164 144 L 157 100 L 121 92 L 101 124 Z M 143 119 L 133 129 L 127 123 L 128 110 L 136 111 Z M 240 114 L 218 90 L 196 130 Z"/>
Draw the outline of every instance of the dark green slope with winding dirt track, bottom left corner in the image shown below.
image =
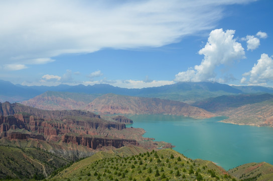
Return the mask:
<path fill-rule="evenodd" d="M 40 149 L 0 146 L 0 179 L 42 179 L 68 163 Z"/>

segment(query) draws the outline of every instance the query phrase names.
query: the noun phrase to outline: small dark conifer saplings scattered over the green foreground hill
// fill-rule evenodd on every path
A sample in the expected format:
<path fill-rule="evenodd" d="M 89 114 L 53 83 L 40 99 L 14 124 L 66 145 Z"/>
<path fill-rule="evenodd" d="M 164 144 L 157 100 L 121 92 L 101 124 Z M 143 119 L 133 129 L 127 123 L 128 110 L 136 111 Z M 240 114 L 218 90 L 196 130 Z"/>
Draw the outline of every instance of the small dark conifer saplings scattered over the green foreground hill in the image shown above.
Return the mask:
<path fill-rule="evenodd" d="M 171 154 L 164 158 L 159 156 L 156 151 L 140 153 L 130 157 L 111 157 L 93 162 L 87 173 L 87 180 L 169 180 L 171 178 L 191 178 L 198 181 L 203 180 L 200 174 L 201 169 L 207 169 L 203 166 L 201 169 L 189 159 L 185 163 L 181 157 L 177 158 Z M 193 163 L 192 163 L 193 162 Z M 195 170 L 195 171 L 194 171 Z M 203 171 L 204 172 L 204 171 Z M 219 179 L 214 170 L 207 169 L 211 177 Z M 78 179 L 82 179 L 81 175 Z"/>

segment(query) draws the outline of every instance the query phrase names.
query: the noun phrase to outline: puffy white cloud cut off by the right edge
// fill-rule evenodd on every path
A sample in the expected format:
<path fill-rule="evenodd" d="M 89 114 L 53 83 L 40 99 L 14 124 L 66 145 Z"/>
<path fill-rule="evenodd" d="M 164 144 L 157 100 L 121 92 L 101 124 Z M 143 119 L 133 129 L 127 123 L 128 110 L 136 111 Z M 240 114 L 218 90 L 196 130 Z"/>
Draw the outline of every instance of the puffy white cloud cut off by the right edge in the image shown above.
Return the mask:
<path fill-rule="evenodd" d="M 252 69 L 249 72 L 243 74 L 241 83 L 248 84 L 260 84 L 273 81 L 273 59 L 267 54 L 263 53 L 260 56 L 260 59 L 257 60 L 257 64 L 254 64 Z M 249 77 L 249 81 L 247 78 Z"/>

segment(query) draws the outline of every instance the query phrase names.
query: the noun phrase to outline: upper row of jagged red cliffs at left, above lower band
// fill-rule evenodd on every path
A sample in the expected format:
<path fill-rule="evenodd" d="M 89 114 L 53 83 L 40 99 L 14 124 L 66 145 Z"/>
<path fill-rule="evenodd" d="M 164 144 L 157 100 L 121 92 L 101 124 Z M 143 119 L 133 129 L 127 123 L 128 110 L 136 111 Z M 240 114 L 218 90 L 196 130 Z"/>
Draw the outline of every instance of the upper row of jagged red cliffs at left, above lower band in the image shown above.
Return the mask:
<path fill-rule="evenodd" d="M 66 118 L 63 120 L 46 121 L 25 113 L 16 113 L 14 116 L 0 117 L 0 138 L 6 137 L 9 130 L 25 129 L 42 135 L 46 140 L 58 141 L 58 136 L 65 133 L 99 134 L 105 129 L 125 129 L 125 124 L 109 122 L 99 118 L 77 120 Z"/>

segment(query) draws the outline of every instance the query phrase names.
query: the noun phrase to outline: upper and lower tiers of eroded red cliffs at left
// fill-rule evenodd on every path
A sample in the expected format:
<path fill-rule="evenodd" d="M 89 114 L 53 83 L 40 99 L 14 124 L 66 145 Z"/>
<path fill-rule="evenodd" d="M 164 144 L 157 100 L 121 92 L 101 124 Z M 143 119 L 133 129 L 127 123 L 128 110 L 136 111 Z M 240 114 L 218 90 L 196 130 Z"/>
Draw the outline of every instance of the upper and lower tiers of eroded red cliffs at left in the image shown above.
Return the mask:
<path fill-rule="evenodd" d="M 107 130 L 118 132 L 126 129 L 126 126 L 122 123 L 103 120 L 99 115 L 91 112 L 45 111 L 10 103 L 1 104 L 0 108 L 0 138 L 62 141 L 92 149 L 139 144 L 135 140 L 114 138 L 114 134 L 111 138 L 104 138 L 103 133 L 109 132 Z M 18 129 L 21 132 L 16 132 Z M 68 133 L 70 136 L 67 136 Z"/>

